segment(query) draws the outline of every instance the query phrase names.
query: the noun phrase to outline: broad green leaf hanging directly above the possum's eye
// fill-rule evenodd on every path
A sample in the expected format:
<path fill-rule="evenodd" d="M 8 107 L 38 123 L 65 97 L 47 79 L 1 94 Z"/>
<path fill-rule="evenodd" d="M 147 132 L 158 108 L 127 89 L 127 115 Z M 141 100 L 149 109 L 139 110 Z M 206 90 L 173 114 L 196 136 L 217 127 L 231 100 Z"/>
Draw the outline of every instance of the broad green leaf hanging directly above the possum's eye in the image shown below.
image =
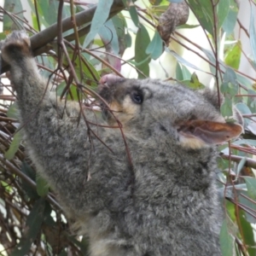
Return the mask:
<path fill-rule="evenodd" d="M 149 66 L 150 55 L 145 52 L 148 44 L 150 43 L 150 38 L 148 35 L 148 31 L 145 26 L 141 25 L 137 31 L 137 37 L 135 39 L 135 61 L 137 68 L 139 68 L 144 76 L 141 73 L 138 73 L 138 78 L 142 79 L 149 76 Z"/>

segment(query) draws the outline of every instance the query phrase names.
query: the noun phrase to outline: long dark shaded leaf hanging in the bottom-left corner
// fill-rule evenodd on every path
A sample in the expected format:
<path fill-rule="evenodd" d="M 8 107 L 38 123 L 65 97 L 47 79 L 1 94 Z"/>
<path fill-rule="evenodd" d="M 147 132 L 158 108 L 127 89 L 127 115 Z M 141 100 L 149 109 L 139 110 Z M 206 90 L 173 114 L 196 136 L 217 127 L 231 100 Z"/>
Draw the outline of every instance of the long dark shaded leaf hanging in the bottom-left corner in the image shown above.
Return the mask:
<path fill-rule="evenodd" d="M 26 236 L 22 236 L 15 250 L 10 256 L 20 256 L 29 253 L 32 242 L 37 238 L 44 219 L 45 201 L 43 198 L 36 201 L 26 218 Z"/>

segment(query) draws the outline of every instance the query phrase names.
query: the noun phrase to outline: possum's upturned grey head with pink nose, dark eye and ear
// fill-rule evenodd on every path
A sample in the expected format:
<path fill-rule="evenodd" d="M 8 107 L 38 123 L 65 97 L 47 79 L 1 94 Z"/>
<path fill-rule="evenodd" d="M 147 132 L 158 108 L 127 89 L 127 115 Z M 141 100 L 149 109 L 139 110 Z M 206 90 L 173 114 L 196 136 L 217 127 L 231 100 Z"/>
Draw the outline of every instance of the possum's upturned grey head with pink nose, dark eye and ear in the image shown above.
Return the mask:
<path fill-rule="evenodd" d="M 125 133 L 168 134 L 186 148 L 224 143 L 242 132 L 240 124 L 226 123 L 218 111 L 217 93 L 189 90 L 181 84 L 154 79 L 121 79 L 106 75 L 100 80 L 102 114 L 109 125 L 117 120 Z M 237 115 L 238 113 L 236 113 Z"/>

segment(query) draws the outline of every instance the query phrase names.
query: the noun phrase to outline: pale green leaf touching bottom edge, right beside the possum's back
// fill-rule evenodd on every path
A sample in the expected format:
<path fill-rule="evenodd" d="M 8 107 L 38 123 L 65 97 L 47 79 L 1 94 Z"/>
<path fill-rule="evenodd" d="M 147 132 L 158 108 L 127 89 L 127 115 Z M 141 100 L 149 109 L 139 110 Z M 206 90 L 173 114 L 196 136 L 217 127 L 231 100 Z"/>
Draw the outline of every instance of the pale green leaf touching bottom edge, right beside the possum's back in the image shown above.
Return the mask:
<path fill-rule="evenodd" d="M 224 219 L 224 222 L 220 230 L 219 242 L 222 256 L 234 255 L 234 238 L 233 236 L 230 235 L 226 219 Z"/>

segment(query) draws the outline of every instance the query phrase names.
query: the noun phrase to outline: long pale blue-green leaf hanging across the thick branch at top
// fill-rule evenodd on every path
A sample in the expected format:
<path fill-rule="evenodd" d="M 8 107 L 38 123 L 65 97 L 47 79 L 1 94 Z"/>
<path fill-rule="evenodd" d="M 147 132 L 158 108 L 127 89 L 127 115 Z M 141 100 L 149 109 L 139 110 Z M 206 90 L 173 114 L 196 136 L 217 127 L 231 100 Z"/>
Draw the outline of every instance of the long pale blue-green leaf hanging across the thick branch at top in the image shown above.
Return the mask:
<path fill-rule="evenodd" d="M 90 44 L 93 38 L 95 38 L 96 33 L 99 32 L 100 28 L 104 25 L 105 21 L 108 20 L 108 15 L 112 4 L 113 0 L 99 0 L 96 12 L 91 20 L 90 32 L 85 38 L 83 48 L 86 48 Z"/>

